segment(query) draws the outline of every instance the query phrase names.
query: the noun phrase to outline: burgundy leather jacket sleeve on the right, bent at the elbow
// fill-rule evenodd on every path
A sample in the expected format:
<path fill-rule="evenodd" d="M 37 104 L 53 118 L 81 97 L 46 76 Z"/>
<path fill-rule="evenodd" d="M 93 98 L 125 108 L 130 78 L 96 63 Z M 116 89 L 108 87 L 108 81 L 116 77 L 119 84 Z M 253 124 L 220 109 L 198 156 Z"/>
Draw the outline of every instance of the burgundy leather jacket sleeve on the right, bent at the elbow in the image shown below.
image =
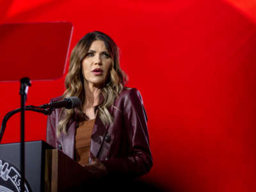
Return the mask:
<path fill-rule="evenodd" d="M 140 92 L 132 89 L 124 99 L 124 125 L 129 142 L 129 153 L 124 159 L 104 161 L 108 173 L 124 173 L 139 176 L 152 167 L 152 155 L 148 142 L 147 115 Z"/>

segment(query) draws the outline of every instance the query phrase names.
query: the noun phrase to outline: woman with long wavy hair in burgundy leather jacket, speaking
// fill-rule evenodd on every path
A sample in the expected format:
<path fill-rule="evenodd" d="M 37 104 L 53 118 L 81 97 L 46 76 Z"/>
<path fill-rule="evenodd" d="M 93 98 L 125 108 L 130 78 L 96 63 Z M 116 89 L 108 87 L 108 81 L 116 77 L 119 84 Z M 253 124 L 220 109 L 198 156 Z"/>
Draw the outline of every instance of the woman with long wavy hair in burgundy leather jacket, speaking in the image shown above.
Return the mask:
<path fill-rule="evenodd" d="M 76 96 L 81 106 L 54 109 L 47 143 L 95 174 L 148 173 L 147 115 L 140 92 L 126 82 L 115 42 L 99 31 L 86 34 L 72 50 L 65 92 L 51 100 Z"/>

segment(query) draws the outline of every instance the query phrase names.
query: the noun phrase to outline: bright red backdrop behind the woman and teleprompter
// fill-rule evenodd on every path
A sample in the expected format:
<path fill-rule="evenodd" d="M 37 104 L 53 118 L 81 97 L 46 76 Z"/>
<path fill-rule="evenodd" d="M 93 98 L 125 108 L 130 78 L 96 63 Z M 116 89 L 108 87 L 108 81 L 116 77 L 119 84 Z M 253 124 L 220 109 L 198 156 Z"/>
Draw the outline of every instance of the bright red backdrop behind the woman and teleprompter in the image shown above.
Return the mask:
<path fill-rule="evenodd" d="M 154 166 L 144 179 L 175 191 L 256 191 L 255 0 L 0 1 L 1 24 L 58 20 L 74 24 L 71 49 L 94 30 L 120 47 L 148 113 Z M 61 95 L 63 82 L 32 82 L 27 104 Z M 19 108 L 19 83 L 0 90 L 2 119 Z M 45 140 L 45 125 L 26 113 L 26 140 Z M 17 141 L 19 115 L 3 138 Z"/>

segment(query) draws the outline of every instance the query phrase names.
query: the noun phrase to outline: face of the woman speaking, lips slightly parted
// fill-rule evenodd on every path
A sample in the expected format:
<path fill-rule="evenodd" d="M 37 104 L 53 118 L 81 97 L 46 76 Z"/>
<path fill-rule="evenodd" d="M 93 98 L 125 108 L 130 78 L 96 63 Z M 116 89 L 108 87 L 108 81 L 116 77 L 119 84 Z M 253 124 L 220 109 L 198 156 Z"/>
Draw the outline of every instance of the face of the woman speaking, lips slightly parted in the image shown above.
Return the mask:
<path fill-rule="evenodd" d="M 112 59 L 102 40 L 92 42 L 82 61 L 84 81 L 96 87 L 108 78 Z"/>

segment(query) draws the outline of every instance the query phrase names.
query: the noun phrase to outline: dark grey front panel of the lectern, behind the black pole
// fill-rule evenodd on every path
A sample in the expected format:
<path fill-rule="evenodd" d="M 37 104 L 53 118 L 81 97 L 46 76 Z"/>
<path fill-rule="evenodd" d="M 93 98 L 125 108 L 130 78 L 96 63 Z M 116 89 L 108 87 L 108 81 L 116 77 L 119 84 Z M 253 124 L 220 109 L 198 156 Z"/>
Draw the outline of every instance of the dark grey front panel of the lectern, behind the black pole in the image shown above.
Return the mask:
<path fill-rule="evenodd" d="M 30 141 L 25 143 L 26 182 L 28 182 L 33 192 L 44 191 L 45 149 L 52 149 L 52 147 L 44 141 Z M 20 143 L 0 145 L 0 163 L 0 172 L 2 173 L 6 169 L 4 163 L 10 163 L 10 167 L 12 164 L 12 166 L 20 171 Z M 10 170 L 9 173 L 11 174 Z M 19 178 L 15 174 L 9 175 L 9 178 L 13 183 L 17 184 L 16 187 L 19 187 Z M 1 179 L 3 180 L 4 177 L 1 177 Z M 2 187 L 4 188 L 4 186 Z"/>

